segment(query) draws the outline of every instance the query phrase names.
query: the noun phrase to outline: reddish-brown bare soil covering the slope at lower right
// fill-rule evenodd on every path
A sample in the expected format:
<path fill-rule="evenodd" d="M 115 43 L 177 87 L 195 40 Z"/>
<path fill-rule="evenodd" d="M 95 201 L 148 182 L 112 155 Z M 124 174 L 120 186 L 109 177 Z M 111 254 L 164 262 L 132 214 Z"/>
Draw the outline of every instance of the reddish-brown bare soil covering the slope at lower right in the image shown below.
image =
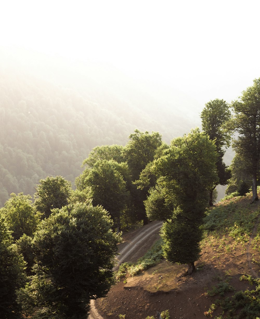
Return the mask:
<path fill-rule="evenodd" d="M 126 245 L 141 231 L 139 229 L 124 235 L 124 243 L 120 245 Z M 158 238 L 157 231 L 127 261 L 137 261 Z M 104 319 L 118 319 L 119 314 L 125 315 L 126 319 L 145 319 L 148 315 L 156 317 L 156 311 L 169 309 L 171 319 L 206 318 L 204 312 L 215 300 L 215 297 L 207 294 L 212 286 L 229 277 L 230 285 L 237 291 L 246 290 L 250 286 L 247 281 L 240 281 L 240 276 L 258 276 L 260 273 L 258 264 L 248 260 L 253 253 L 250 247 L 239 243 L 233 245 L 233 240 L 228 237 L 226 244 L 233 248 L 221 250 L 213 237 L 204 243 L 201 257 L 195 263 L 197 271 L 192 276 L 182 276 L 187 265 L 171 264 L 163 260 L 137 276 L 117 282 L 105 298 L 95 302 L 99 314 Z M 213 317 L 220 314 L 221 309 L 216 308 Z"/>

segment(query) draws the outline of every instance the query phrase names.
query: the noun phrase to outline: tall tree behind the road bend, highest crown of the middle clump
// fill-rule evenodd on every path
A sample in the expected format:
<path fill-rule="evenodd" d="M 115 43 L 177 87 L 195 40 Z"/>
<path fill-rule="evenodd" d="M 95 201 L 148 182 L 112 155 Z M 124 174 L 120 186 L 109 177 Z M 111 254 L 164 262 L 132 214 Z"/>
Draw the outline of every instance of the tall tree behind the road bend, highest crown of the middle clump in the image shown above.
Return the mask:
<path fill-rule="evenodd" d="M 152 162 L 155 158 L 158 147 L 162 145 L 162 136 L 158 132 L 148 131 L 140 132 L 135 130 L 133 134 L 129 136 L 129 142 L 124 147 L 122 154 L 127 162 L 130 170 L 130 176 L 133 182 L 139 180 L 140 174 L 149 162 Z M 138 185 L 135 185 L 131 189 L 131 200 L 134 203 L 134 210 L 136 218 L 143 220 L 144 224 L 147 224 L 148 219 L 144 207 L 144 200 L 148 196 L 148 189 L 153 185 L 142 187 L 138 189 Z"/>

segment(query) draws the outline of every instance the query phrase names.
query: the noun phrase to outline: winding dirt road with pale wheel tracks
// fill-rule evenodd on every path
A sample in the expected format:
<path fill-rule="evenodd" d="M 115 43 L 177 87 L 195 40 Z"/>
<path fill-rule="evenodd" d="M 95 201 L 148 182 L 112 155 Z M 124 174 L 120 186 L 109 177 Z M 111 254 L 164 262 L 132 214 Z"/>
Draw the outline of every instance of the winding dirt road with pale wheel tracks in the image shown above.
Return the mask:
<path fill-rule="evenodd" d="M 113 268 L 114 271 L 118 270 L 121 263 L 130 261 L 131 259 L 138 259 L 135 256 L 139 250 L 144 252 L 149 249 L 154 242 L 154 234 L 157 234 L 163 222 L 155 221 L 145 225 L 138 230 L 134 231 L 132 235 L 126 234 L 126 240 L 119 244 L 117 265 Z M 143 255 L 143 254 L 142 254 Z M 90 315 L 89 319 L 104 319 L 98 314 L 95 307 L 95 300 L 90 301 Z"/>

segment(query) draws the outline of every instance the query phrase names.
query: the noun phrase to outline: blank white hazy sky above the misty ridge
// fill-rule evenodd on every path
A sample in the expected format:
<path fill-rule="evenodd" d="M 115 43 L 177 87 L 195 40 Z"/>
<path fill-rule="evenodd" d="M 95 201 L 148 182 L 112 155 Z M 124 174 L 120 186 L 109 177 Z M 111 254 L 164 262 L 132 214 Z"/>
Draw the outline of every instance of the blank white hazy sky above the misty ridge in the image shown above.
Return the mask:
<path fill-rule="evenodd" d="M 260 1 L 1 1 L 0 45 L 230 102 L 260 77 Z"/>

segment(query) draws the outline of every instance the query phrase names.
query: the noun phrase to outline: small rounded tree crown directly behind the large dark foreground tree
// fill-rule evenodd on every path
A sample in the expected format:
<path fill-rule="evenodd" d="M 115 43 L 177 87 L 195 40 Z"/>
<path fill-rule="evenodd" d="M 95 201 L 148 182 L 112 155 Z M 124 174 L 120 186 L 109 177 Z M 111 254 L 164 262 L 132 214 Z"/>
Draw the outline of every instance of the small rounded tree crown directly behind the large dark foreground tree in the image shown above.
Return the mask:
<path fill-rule="evenodd" d="M 68 205 L 71 183 L 62 176 L 47 176 L 39 181 L 34 195 L 34 205 L 43 217 L 49 217 L 51 210 Z"/>

